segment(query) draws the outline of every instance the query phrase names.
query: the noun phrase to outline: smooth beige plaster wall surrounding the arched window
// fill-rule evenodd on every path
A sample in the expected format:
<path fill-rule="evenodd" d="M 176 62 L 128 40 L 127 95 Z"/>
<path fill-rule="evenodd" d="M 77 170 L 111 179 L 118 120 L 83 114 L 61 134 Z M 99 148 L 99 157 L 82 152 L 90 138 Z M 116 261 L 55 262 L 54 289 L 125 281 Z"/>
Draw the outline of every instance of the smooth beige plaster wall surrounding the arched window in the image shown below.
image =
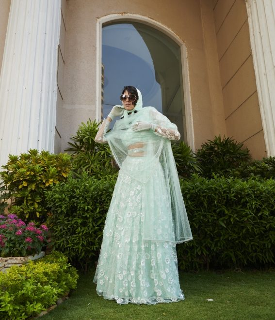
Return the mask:
<path fill-rule="evenodd" d="M 186 44 L 195 147 L 225 134 L 223 98 L 211 1 L 67 0 L 62 149 L 81 123 L 96 116 L 97 17 L 133 13 L 150 17 Z"/>

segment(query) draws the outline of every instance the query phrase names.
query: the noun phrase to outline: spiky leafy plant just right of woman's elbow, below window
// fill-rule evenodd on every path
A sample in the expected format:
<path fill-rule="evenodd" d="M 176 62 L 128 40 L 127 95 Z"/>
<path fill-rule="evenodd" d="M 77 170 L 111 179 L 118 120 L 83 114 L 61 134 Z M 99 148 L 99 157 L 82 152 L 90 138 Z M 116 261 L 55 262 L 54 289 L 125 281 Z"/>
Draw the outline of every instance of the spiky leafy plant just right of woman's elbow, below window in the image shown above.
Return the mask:
<path fill-rule="evenodd" d="M 183 141 L 173 143 L 172 151 L 179 176 L 190 178 L 193 173 L 201 172 L 201 168 L 197 163 L 191 148 Z"/>

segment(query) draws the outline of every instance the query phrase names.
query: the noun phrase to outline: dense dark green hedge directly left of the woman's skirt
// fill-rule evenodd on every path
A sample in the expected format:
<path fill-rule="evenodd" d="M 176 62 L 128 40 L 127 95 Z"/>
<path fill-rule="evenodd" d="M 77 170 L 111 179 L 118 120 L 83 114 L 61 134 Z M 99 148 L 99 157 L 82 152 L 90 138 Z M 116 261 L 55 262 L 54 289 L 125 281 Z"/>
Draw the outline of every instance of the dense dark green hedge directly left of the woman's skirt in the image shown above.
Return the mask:
<path fill-rule="evenodd" d="M 99 253 L 115 180 L 115 176 L 97 180 L 83 173 L 46 193 L 52 246 L 83 269 Z"/>

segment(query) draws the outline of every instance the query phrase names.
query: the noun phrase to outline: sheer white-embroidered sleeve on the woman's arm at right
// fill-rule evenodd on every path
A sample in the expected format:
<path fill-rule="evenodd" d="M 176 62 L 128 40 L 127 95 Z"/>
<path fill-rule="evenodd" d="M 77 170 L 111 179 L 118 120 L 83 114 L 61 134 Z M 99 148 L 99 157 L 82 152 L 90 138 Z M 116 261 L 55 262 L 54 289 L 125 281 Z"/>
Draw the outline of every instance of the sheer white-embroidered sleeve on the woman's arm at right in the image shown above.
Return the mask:
<path fill-rule="evenodd" d="M 155 108 L 151 110 L 152 123 L 156 126 L 154 133 L 169 140 L 178 141 L 180 133 L 177 126 Z"/>

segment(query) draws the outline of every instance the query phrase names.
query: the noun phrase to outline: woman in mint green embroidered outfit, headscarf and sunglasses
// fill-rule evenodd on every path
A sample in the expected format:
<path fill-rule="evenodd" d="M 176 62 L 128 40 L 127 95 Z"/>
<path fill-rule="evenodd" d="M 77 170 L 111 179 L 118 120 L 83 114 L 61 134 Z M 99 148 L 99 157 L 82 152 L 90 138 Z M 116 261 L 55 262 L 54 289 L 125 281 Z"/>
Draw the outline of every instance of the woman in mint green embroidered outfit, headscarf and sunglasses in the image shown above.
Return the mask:
<path fill-rule="evenodd" d="M 95 141 L 108 142 L 120 172 L 107 213 L 94 282 L 118 304 L 183 300 L 176 243 L 192 240 L 170 140 L 177 126 L 140 91 L 124 87 Z M 107 132 L 115 116 L 121 116 Z"/>

